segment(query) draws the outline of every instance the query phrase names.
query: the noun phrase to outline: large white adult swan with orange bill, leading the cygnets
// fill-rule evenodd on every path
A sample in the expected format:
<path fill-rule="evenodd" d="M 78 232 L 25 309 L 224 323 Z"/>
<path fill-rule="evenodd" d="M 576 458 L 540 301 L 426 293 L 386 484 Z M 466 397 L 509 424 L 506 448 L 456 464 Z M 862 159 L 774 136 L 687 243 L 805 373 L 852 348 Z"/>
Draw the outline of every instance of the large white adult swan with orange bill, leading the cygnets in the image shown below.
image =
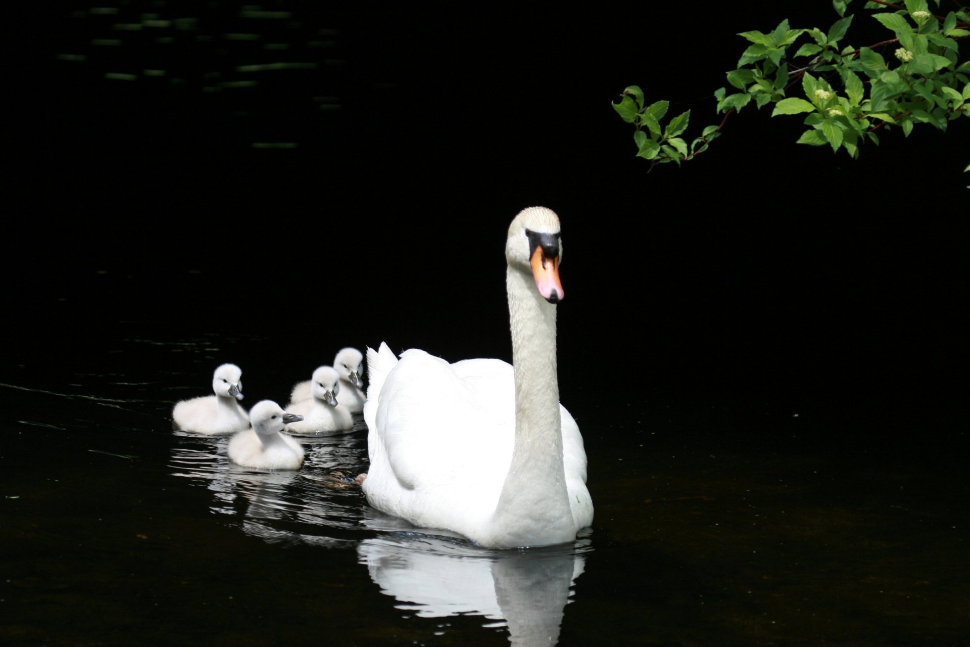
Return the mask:
<path fill-rule="evenodd" d="M 385 343 L 368 348 L 371 468 L 362 487 L 374 507 L 491 548 L 572 541 L 593 522 L 583 438 L 559 404 L 561 244 L 548 209 L 523 210 L 508 228 L 514 368 L 449 365 L 417 349 L 399 361 Z"/>

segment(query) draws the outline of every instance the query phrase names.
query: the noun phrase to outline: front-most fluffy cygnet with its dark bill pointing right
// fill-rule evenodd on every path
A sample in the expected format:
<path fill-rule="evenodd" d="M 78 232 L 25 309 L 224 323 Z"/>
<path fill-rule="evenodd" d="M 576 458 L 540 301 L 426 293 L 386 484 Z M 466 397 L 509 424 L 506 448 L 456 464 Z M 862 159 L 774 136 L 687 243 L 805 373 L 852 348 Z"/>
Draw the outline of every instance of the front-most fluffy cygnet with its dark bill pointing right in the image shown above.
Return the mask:
<path fill-rule="evenodd" d="M 303 417 L 288 413 L 272 400 L 263 400 L 249 410 L 252 428 L 229 440 L 229 460 L 244 468 L 300 469 L 304 450 L 291 437 L 280 434 L 286 424 Z"/>

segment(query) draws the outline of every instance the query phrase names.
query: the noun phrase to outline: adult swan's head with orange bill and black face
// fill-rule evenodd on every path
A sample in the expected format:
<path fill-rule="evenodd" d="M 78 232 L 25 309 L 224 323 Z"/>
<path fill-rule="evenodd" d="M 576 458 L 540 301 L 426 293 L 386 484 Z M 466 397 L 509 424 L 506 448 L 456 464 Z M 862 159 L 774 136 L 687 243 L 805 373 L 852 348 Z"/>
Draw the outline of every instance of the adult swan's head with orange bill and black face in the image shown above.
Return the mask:
<path fill-rule="evenodd" d="M 508 227 L 505 260 L 509 266 L 531 272 L 535 287 L 550 304 L 563 300 L 563 284 L 559 280 L 559 264 L 563 260 L 559 216 L 545 207 L 530 207 L 519 211 Z"/>

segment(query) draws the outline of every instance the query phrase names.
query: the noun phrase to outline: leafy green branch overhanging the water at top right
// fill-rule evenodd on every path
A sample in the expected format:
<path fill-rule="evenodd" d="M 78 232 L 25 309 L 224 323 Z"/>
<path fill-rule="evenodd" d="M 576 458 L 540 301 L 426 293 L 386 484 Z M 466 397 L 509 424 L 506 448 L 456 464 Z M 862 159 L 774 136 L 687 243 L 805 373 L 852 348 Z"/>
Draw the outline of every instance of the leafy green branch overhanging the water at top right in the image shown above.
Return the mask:
<path fill-rule="evenodd" d="M 931 1 L 938 11 L 941 0 Z M 643 91 L 630 85 L 613 108 L 635 127 L 637 156 L 651 165 L 693 159 L 720 137 L 728 115 L 752 104 L 773 104 L 771 116 L 804 114 L 807 129 L 798 144 L 842 148 L 852 157 L 866 140 L 878 145 L 880 130 L 898 127 L 909 137 L 916 125 L 945 131 L 950 121 L 970 116 L 970 61 L 960 59 L 958 46 L 970 36 L 970 11 L 961 2 L 954 0 L 956 11 L 945 16 L 931 13 L 926 0 L 905 0 L 905 8 L 865 2 L 863 9 L 889 33 L 860 48 L 841 45 L 855 17 L 845 15 L 851 2 L 833 0 L 840 18 L 827 31 L 792 29 L 785 19 L 769 33 L 738 34 L 748 46 L 737 69 L 727 72 L 736 91 L 714 93 L 717 113 L 725 116 L 690 146 L 680 137 L 690 111 L 664 125 L 668 102 L 647 104 Z"/>

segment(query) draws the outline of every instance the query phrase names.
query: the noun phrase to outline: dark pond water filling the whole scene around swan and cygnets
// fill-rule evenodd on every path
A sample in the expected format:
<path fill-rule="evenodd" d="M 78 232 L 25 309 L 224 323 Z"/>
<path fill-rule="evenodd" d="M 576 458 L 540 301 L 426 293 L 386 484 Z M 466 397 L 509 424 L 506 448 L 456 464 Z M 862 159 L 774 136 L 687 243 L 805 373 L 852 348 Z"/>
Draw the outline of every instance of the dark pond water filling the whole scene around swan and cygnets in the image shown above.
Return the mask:
<path fill-rule="evenodd" d="M 33 9 L 0 641 L 970 644 L 960 120 L 855 162 L 754 113 L 647 175 L 609 107 L 638 82 L 713 121 L 713 61 L 776 4 L 699 3 L 649 48 L 606 9 Z M 377 514 L 340 478 L 362 429 L 304 438 L 292 473 L 173 432 L 223 362 L 254 404 L 344 345 L 508 360 L 501 242 L 535 204 L 568 250 L 560 385 L 596 507 L 575 545 Z"/>

